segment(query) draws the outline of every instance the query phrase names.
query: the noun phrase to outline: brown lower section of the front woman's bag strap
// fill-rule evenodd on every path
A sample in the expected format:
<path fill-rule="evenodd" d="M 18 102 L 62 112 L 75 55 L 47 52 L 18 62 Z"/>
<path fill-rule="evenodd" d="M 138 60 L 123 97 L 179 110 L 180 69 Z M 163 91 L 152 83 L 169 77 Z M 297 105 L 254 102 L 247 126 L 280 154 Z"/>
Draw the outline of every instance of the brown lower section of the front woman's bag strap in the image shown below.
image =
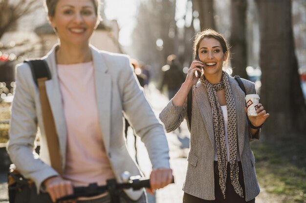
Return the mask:
<path fill-rule="evenodd" d="M 47 138 L 49 156 L 51 161 L 51 166 L 60 174 L 63 174 L 63 168 L 61 163 L 61 153 L 58 136 L 55 130 L 54 118 L 50 108 L 50 103 L 47 97 L 45 89 L 45 81 L 47 77 L 38 78 L 38 89 L 41 100 L 41 108 L 43 113 L 44 121 L 44 132 Z"/>

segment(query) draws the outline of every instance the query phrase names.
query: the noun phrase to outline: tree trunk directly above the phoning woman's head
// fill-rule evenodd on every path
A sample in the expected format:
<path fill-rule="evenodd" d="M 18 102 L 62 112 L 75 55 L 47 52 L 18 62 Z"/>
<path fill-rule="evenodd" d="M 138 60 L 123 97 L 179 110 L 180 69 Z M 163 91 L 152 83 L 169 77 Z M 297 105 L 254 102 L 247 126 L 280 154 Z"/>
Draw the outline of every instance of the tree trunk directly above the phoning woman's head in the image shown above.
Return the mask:
<path fill-rule="evenodd" d="M 193 10 L 197 11 L 200 20 L 200 30 L 215 29 L 214 0 L 193 0 Z"/>

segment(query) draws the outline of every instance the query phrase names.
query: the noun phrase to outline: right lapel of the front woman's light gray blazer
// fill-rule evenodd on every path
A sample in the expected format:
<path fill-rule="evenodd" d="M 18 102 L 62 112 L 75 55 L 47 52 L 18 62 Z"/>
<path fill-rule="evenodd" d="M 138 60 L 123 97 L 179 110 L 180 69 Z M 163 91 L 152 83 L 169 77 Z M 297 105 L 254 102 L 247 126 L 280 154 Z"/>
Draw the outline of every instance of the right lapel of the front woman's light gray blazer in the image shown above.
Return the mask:
<path fill-rule="evenodd" d="M 102 131 L 104 146 L 109 151 L 110 142 L 110 111 L 111 111 L 111 79 L 108 74 L 108 66 L 103 56 L 91 47 L 94 66 L 94 79 L 99 123 Z"/>

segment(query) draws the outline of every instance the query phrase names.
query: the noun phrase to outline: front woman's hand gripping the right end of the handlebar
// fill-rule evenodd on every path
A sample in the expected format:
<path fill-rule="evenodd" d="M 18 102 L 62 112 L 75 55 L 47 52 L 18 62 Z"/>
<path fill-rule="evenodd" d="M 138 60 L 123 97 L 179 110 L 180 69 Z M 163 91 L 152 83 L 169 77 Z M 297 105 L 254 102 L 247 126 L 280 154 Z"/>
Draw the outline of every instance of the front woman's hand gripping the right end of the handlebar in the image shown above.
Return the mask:
<path fill-rule="evenodd" d="M 153 169 L 150 175 L 151 188 L 147 188 L 147 192 L 154 194 L 156 189 L 160 189 L 169 185 L 173 179 L 171 168 Z"/>

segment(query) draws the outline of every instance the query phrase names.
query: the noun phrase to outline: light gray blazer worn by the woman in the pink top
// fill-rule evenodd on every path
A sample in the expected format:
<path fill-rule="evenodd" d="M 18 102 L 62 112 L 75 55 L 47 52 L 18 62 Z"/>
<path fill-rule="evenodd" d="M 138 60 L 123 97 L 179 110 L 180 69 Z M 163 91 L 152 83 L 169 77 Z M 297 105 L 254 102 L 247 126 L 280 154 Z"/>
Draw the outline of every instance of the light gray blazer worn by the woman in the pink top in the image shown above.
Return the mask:
<path fill-rule="evenodd" d="M 94 66 L 99 123 L 105 149 L 117 181 L 121 181 L 120 177 L 124 171 L 129 171 L 131 175 L 141 174 L 127 149 L 123 135 L 123 115 L 127 117 L 136 134 L 145 143 L 153 168 L 170 168 L 165 131 L 138 85 L 129 58 L 126 55 L 99 51 L 92 46 L 90 49 Z M 64 167 L 67 129 L 57 75 L 55 47 L 44 57 L 44 60 L 47 61 L 52 75 L 52 78 L 46 81 L 46 91 L 55 120 Z M 7 149 L 12 162 L 26 178 L 34 180 L 39 189 L 46 178 L 57 175 L 57 172 L 49 166 L 50 159 L 39 91 L 27 63 L 17 66 L 16 85 Z M 39 156 L 33 152 L 36 147 L 38 127 L 41 131 Z M 86 146 L 86 143 L 84 147 L 90 148 Z M 143 190 L 127 190 L 126 192 L 131 199 L 136 200 Z"/>

